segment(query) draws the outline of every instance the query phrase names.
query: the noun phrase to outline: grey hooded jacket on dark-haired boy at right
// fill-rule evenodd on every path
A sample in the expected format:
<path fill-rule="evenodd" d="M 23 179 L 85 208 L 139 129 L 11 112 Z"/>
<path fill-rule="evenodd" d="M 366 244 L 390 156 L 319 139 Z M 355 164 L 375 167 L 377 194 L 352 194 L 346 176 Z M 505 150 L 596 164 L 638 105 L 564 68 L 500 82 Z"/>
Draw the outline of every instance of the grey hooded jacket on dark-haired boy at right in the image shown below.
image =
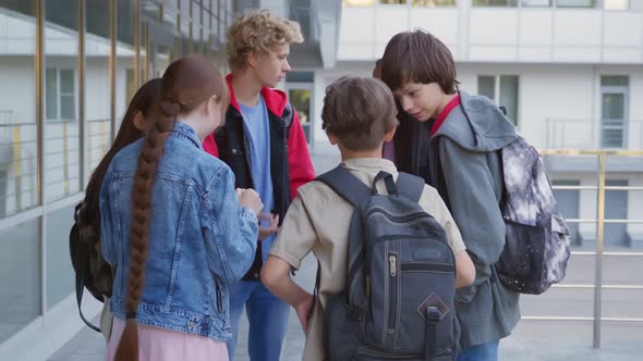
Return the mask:
<path fill-rule="evenodd" d="M 460 347 L 469 348 L 508 336 L 520 320 L 519 296 L 494 267 L 505 247 L 500 149 L 517 135 L 488 98 L 460 91 L 460 101 L 430 138 L 429 174 L 475 264 L 473 285 L 460 288 L 456 302 Z"/>

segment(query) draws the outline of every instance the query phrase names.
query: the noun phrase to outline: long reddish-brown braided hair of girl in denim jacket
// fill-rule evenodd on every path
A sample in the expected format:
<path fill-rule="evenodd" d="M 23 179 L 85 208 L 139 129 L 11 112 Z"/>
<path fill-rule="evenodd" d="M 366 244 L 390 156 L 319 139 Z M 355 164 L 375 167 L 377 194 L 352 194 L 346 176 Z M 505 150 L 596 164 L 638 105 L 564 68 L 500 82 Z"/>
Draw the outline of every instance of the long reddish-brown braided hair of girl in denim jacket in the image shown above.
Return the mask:
<path fill-rule="evenodd" d="M 187 114 L 218 96 L 222 112 L 228 103 L 228 87 L 221 74 L 199 55 L 190 55 L 170 64 L 161 79 L 160 101 L 150 116 L 151 128 L 138 155 L 138 169 L 132 188 L 132 226 L 130 231 L 130 269 L 125 298 L 126 323 L 119 341 L 116 360 L 138 360 L 136 310 L 145 285 L 151 191 L 163 144 L 174 128 L 177 115 Z M 222 114 L 221 114 L 222 115 Z"/>

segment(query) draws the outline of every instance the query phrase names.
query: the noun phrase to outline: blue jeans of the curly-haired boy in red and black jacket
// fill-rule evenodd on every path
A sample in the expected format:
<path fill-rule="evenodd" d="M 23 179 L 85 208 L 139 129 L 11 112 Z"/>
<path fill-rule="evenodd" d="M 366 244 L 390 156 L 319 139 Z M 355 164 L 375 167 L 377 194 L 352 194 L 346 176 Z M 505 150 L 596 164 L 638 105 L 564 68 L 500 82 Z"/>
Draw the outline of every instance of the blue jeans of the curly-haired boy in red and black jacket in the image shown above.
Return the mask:
<path fill-rule="evenodd" d="M 252 361 L 279 361 L 281 346 L 288 331 L 290 306 L 260 282 L 241 281 L 229 287 L 232 339 L 227 341 L 230 361 L 234 359 L 239 320 L 245 307 L 250 322 L 247 352 Z"/>

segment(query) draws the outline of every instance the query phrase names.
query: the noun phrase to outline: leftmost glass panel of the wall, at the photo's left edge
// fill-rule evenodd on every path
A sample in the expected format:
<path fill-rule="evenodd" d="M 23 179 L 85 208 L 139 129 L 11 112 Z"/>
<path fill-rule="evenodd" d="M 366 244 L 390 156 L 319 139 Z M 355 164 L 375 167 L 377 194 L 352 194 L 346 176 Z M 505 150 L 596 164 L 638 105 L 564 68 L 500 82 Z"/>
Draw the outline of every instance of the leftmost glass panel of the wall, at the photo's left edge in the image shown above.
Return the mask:
<path fill-rule="evenodd" d="M 36 1 L 0 2 L 0 221 L 38 206 Z M 40 217 L 0 227 L 0 345 L 40 314 Z"/>

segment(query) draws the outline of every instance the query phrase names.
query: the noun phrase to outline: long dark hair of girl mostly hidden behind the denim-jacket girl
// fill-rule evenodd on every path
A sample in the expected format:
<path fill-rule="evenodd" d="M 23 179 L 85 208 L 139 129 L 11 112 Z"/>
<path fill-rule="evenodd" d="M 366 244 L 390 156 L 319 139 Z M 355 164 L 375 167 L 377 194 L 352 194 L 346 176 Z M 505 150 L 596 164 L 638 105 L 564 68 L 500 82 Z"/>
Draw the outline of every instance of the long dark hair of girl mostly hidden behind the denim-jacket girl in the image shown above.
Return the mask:
<path fill-rule="evenodd" d="M 158 100 L 159 90 L 160 78 L 155 78 L 145 83 L 138 89 L 138 91 L 136 91 L 134 97 L 132 97 L 130 107 L 128 107 L 128 111 L 123 116 L 119 133 L 117 134 L 111 148 L 109 148 L 109 151 L 105 154 L 100 163 L 98 163 L 98 166 L 89 178 L 87 189 L 85 190 L 82 216 L 88 224 L 96 227 L 96 229 L 100 229 L 100 210 L 98 208 L 98 197 L 100 195 L 100 186 L 102 184 L 105 173 L 107 172 L 107 167 L 109 166 L 109 163 L 111 163 L 113 157 L 121 149 L 125 148 L 143 136 L 143 132 L 141 132 L 134 125 L 134 116 L 136 113 L 141 112 L 143 117 L 147 119 L 151 110 L 151 105 L 154 105 L 154 103 L 156 103 Z"/>

